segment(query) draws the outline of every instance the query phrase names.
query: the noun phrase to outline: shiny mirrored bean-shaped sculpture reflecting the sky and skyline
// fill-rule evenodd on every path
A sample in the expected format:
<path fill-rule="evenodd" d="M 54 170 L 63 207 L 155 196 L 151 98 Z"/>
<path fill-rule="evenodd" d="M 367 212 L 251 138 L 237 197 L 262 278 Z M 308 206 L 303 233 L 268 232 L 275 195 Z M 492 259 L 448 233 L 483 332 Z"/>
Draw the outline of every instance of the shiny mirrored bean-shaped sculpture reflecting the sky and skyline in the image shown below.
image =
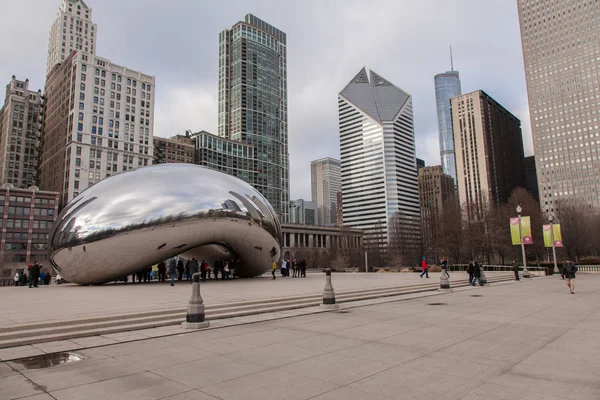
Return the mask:
<path fill-rule="evenodd" d="M 246 182 L 191 164 L 160 164 L 107 178 L 65 207 L 50 260 L 78 284 L 120 279 L 169 257 L 230 260 L 240 277 L 279 259 L 281 228 Z"/>

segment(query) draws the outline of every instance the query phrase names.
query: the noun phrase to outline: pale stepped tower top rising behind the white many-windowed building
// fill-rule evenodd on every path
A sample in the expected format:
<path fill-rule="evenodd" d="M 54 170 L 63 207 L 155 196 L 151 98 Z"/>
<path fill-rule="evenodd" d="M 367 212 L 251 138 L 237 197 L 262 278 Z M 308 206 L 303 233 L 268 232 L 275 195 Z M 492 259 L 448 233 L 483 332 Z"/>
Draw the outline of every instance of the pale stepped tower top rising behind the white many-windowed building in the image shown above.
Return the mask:
<path fill-rule="evenodd" d="M 92 9 L 83 0 L 63 0 L 50 29 L 46 75 L 73 50 L 96 54 L 98 26 L 92 23 Z"/>

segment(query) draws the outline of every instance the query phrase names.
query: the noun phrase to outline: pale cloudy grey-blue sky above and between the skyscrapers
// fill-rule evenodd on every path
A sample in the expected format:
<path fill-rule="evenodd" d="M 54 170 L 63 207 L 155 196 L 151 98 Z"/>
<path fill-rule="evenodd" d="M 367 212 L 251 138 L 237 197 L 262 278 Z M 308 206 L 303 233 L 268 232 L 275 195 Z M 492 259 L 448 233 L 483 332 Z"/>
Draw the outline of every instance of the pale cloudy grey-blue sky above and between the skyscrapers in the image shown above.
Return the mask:
<path fill-rule="evenodd" d="M 43 89 L 61 0 L 0 0 L 0 84 Z M 156 136 L 217 131 L 221 30 L 247 13 L 287 33 L 292 199 L 310 199 L 310 161 L 339 157 L 337 94 L 366 66 L 413 96 L 417 156 L 440 164 L 433 77 L 454 66 L 521 119 L 533 153 L 516 0 L 86 0 L 97 54 L 156 76 Z"/>

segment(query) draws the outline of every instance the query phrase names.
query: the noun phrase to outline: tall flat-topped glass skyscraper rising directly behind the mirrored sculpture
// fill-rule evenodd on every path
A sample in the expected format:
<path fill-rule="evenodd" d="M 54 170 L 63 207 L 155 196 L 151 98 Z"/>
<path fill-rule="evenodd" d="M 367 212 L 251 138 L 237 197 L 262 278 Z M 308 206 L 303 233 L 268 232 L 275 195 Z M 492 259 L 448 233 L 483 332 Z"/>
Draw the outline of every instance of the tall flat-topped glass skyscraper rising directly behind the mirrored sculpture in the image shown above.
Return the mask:
<path fill-rule="evenodd" d="M 289 220 L 287 40 L 279 29 L 246 15 L 219 35 L 218 135 L 256 147 L 250 183 Z"/>

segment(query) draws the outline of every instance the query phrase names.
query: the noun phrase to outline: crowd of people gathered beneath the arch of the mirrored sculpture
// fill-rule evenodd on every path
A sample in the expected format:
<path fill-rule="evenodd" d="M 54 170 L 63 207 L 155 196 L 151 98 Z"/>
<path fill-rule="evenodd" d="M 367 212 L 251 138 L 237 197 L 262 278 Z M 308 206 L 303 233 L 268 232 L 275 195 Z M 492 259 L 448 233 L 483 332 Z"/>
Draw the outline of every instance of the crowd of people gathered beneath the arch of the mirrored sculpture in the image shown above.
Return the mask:
<path fill-rule="evenodd" d="M 198 262 L 195 258 L 187 260 L 184 264 L 183 259 L 180 257 L 172 257 L 167 260 L 161 261 L 156 265 L 156 269 L 152 266 L 144 268 L 131 274 L 131 283 L 151 282 L 157 280 L 159 282 L 166 282 L 170 280 L 171 286 L 175 286 L 175 281 L 188 281 L 192 283 L 192 276 L 195 273 L 200 273 L 200 279 L 206 281 L 207 279 L 220 279 L 229 280 L 232 279 L 232 270 L 230 262 L 227 260 L 216 260 L 213 267 L 210 268 L 206 260 Z M 128 277 L 121 279 L 127 283 Z"/>

